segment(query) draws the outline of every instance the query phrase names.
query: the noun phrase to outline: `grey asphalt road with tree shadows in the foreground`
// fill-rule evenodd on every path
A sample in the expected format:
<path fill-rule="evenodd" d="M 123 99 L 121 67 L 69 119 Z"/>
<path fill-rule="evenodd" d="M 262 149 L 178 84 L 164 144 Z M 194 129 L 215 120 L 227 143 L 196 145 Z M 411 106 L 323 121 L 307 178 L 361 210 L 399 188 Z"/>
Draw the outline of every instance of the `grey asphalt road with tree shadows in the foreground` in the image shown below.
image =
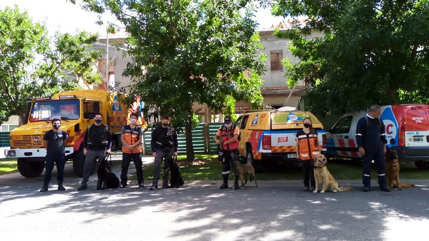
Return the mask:
<path fill-rule="evenodd" d="M 119 172 L 119 162 L 114 170 Z M 132 165 L 130 166 L 132 169 Z M 55 173 L 55 171 L 54 171 Z M 220 181 L 188 181 L 179 189 L 76 191 L 66 165 L 66 191 L 39 193 L 42 176 L 0 176 L 2 240 L 428 240 L 429 180 L 384 193 L 373 183 L 340 181 L 355 190 L 302 191 L 301 181 L 260 181 L 220 190 Z M 149 185 L 150 180 L 145 184 Z M 231 185 L 232 183 L 230 183 Z"/>

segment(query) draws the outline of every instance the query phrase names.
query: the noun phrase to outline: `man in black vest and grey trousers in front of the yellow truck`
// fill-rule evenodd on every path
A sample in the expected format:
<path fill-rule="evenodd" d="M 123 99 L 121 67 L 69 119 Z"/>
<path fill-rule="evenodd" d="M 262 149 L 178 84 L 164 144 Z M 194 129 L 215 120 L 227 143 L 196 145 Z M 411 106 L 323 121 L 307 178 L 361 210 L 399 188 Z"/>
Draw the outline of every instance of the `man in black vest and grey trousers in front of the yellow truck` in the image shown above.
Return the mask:
<path fill-rule="evenodd" d="M 85 131 L 83 154 L 86 155 L 86 157 L 83 167 L 82 185 L 78 190 L 85 190 L 88 187 L 87 183 L 94 170 L 94 166 L 96 167 L 95 170 L 97 170 L 104 161 L 106 153 L 110 153 L 112 137 L 109 128 L 101 124 L 102 119 L 103 116 L 100 113 L 96 113 L 94 115 L 94 125 L 88 126 Z M 101 183 L 100 185 L 97 184 L 97 190 L 98 189 L 101 189 Z"/>

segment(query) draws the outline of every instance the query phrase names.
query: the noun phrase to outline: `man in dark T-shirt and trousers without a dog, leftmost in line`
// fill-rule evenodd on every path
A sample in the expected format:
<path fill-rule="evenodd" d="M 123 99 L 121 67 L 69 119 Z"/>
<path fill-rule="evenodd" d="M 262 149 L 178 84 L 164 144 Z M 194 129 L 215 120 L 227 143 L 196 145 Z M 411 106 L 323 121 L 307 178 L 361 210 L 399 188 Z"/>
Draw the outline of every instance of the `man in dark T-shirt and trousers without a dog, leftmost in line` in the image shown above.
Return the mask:
<path fill-rule="evenodd" d="M 49 181 L 51 181 L 52 170 L 54 163 L 57 165 L 57 181 L 58 190 L 66 190 L 63 187 L 64 165 L 66 164 L 66 156 L 64 155 L 64 146 L 68 135 L 65 131 L 60 130 L 61 120 L 52 120 L 52 129 L 45 133 L 43 137 L 43 146 L 46 149 L 46 165 L 45 177 L 43 178 L 43 187 L 41 192 L 48 190 Z"/>

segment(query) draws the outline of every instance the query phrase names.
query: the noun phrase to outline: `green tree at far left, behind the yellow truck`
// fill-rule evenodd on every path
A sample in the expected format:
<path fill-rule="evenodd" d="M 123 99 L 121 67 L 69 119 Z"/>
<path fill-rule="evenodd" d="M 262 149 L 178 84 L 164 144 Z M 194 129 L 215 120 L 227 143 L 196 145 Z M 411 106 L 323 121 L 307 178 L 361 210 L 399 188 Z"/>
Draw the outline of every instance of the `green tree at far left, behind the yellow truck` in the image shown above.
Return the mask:
<path fill-rule="evenodd" d="M 0 33 L 0 123 L 11 115 L 23 118 L 27 98 L 79 88 L 76 76 L 100 80 L 92 70 L 99 51 L 87 51 L 95 34 L 56 33 L 51 43 L 45 26 L 17 6 L 0 10 Z"/>

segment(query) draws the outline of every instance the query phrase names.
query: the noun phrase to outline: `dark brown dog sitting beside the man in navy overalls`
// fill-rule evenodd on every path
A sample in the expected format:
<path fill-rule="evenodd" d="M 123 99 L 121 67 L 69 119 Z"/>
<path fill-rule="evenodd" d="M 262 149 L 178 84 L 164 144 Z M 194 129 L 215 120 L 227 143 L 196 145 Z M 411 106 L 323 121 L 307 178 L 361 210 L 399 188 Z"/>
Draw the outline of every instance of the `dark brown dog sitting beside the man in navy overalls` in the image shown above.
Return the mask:
<path fill-rule="evenodd" d="M 402 183 L 399 181 L 399 158 L 395 150 L 390 150 L 386 147 L 386 154 L 384 155 L 384 164 L 386 166 L 386 179 L 389 188 L 397 187 L 402 190 L 403 187 L 414 187 L 414 184 Z"/>

